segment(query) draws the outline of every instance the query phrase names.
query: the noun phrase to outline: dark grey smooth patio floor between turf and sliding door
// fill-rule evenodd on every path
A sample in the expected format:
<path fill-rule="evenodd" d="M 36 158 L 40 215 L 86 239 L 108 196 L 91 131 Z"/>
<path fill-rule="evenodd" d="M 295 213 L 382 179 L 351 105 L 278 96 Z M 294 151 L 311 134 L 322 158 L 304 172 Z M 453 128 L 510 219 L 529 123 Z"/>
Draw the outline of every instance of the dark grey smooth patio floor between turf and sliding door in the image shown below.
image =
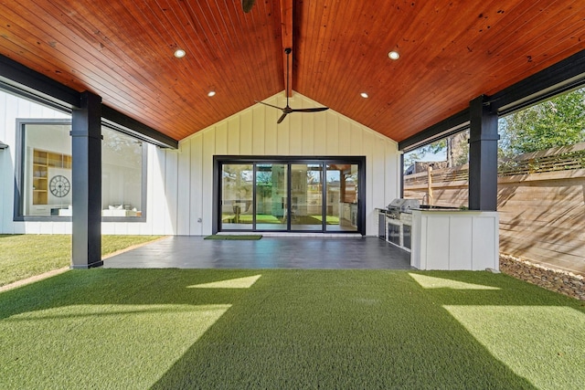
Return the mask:
<path fill-rule="evenodd" d="M 410 253 L 378 237 L 166 237 L 104 260 L 122 269 L 410 269 Z"/>

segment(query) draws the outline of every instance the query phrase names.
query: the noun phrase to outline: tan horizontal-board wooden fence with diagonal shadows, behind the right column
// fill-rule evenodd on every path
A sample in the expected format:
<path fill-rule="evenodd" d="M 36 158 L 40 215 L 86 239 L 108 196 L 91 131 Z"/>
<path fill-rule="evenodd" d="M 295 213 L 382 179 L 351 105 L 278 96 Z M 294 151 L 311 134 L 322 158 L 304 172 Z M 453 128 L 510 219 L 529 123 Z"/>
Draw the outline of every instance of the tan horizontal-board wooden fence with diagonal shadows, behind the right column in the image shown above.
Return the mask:
<path fill-rule="evenodd" d="M 435 206 L 467 206 L 468 167 L 405 176 L 405 197 L 429 190 Z M 585 274 L 585 142 L 500 164 L 498 211 L 502 253 Z"/>

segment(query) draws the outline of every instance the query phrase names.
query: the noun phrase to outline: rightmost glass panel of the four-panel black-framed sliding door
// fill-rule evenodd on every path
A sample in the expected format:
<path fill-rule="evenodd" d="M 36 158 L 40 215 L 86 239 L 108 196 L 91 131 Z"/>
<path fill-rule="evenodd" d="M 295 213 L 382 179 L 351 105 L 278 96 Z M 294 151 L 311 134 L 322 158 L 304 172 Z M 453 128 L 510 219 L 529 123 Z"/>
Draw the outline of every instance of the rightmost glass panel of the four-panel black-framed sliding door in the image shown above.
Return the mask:
<path fill-rule="evenodd" d="M 357 231 L 357 164 L 328 163 L 327 231 Z"/>

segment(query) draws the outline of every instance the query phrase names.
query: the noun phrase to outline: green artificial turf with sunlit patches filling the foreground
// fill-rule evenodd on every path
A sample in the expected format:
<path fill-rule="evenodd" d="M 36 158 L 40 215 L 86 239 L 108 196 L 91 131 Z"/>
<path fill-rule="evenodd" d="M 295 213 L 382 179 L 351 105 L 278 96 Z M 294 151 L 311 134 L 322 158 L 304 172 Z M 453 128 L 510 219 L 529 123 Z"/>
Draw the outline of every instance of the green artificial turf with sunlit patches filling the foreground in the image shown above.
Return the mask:
<path fill-rule="evenodd" d="M 580 389 L 583 329 L 489 272 L 76 269 L 0 293 L 0 388 Z"/>

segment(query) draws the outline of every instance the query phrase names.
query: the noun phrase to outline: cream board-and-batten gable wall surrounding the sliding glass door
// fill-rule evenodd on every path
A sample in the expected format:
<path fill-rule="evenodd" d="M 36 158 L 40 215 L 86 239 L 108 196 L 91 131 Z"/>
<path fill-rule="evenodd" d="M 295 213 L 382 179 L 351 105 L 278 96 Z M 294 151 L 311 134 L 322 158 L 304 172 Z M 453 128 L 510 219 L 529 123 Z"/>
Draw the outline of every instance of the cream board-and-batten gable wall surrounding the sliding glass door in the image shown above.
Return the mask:
<path fill-rule="evenodd" d="M 284 106 L 283 94 L 267 102 Z M 294 94 L 291 105 L 318 106 Z M 277 124 L 280 111 L 256 104 L 179 142 L 177 151 L 159 151 L 152 175 L 148 212 L 152 234 L 201 236 L 211 233 L 214 155 L 366 156 L 367 236 L 378 231 L 376 207 L 399 196 L 398 143 L 333 111 L 293 113 Z M 162 195 L 164 193 L 164 195 Z M 159 202 L 163 201 L 161 204 Z M 165 216 L 158 213 L 168 213 Z"/>

